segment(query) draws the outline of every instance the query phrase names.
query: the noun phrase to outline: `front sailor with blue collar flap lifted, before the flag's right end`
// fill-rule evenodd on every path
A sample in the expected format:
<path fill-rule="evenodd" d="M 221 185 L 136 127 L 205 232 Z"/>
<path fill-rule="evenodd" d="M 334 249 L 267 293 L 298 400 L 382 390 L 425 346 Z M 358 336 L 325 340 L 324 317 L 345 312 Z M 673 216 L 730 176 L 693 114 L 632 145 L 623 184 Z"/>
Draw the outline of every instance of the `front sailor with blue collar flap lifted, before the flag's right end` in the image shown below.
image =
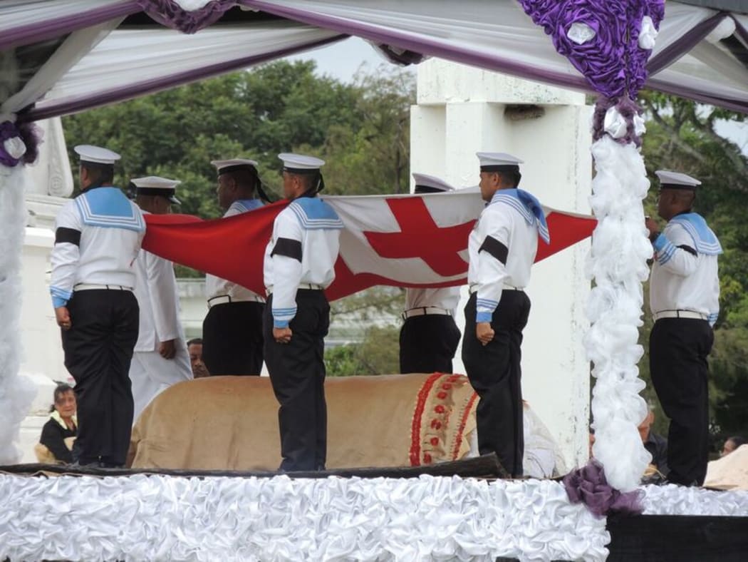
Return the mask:
<path fill-rule="evenodd" d="M 530 314 L 524 292 L 538 250 L 548 242 L 548 225 L 538 200 L 517 189 L 521 160 L 511 154 L 479 152 L 480 193 L 486 208 L 470 233 L 462 362 L 479 396 L 478 448 L 496 453 L 506 471 L 521 477 L 521 342 Z"/>

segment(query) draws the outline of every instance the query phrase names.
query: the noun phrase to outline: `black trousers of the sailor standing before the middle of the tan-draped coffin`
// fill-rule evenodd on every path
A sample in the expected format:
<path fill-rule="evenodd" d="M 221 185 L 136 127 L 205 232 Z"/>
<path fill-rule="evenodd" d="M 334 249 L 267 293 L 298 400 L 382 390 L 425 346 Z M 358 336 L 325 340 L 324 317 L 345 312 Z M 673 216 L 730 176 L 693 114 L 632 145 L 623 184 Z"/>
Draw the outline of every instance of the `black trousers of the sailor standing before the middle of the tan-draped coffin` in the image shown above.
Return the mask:
<path fill-rule="evenodd" d="M 296 292 L 296 315 L 289 324 L 289 343 L 273 338 L 272 295 L 263 317 L 265 362 L 270 372 L 281 429 L 281 470 L 315 471 L 327 459 L 327 404 L 325 403 L 325 336 L 330 306 L 325 293 Z"/>

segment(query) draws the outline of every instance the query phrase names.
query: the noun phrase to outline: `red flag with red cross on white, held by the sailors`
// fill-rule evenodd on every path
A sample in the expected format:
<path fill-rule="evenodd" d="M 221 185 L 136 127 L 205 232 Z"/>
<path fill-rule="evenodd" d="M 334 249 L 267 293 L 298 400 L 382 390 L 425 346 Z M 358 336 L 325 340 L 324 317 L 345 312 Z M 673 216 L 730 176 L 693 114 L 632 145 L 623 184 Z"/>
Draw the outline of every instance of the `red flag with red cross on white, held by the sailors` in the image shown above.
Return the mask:
<path fill-rule="evenodd" d="M 476 190 L 425 195 L 324 196 L 345 224 L 329 300 L 373 285 L 448 287 L 467 282 L 468 235 L 484 202 Z M 216 220 L 146 215 L 145 250 L 265 294 L 263 257 L 287 201 Z M 536 262 L 592 234 L 593 217 L 543 208 L 551 244 Z"/>

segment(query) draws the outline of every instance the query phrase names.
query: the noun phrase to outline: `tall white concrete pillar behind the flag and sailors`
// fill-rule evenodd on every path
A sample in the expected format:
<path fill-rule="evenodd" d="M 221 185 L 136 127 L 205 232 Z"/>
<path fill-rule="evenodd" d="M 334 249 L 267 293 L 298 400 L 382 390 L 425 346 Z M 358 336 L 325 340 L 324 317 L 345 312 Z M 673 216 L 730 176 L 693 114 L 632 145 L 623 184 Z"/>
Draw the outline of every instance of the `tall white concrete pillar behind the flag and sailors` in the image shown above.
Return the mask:
<path fill-rule="evenodd" d="M 509 152 L 524 160 L 520 187 L 545 205 L 589 213 L 590 109 L 583 94 L 440 59 L 419 65 L 417 85 L 411 172 L 474 186 L 477 151 Z M 527 289 L 533 305 L 522 346 L 524 397 L 557 439 L 568 468 L 584 464 L 588 453 L 589 363 L 582 345 L 588 250 L 583 242 L 540 262 Z M 465 319 L 457 320 L 464 331 Z M 456 372 L 465 372 L 461 353 Z"/>

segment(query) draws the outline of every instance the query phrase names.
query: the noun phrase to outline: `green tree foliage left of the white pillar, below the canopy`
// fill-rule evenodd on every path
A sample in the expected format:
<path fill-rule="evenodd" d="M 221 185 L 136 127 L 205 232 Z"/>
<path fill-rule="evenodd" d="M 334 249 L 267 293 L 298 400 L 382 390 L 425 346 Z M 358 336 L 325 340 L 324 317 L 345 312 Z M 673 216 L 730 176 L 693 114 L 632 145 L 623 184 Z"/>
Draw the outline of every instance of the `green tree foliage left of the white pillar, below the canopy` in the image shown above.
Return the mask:
<path fill-rule="evenodd" d="M 73 146 L 102 145 L 122 155 L 116 184 L 164 175 L 183 183 L 181 211 L 220 216 L 210 160 L 257 160 L 263 181 L 280 193 L 278 153 L 327 160 L 328 193 L 400 193 L 408 189 L 411 74 L 360 74 L 351 84 L 316 76 L 313 61 L 278 61 L 64 118 Z"/>

